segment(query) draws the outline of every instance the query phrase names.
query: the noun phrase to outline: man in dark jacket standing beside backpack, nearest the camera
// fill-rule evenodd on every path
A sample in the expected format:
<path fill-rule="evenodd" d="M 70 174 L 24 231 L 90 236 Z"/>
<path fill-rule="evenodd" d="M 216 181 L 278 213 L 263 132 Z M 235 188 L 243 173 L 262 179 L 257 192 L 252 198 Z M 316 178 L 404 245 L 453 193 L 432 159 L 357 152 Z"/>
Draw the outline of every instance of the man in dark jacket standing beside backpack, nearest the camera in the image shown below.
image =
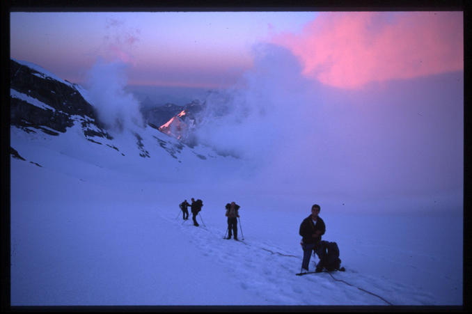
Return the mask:
<path fill-rule="evenodd" d="M 320 205 L 313 205 L 311 207 L 310 216 L 306 217 L 304 221 L 301 222 L 299 234 L 302 237 L 301 247 L 304 250 L 304 260 L 301 263 L 301 268 L 305 269 L 308 272 L 308 263 L 310 262 L 311 252 L 317 249 L 317 244 L 321 241 L 321 236 L 324 235 L 326 231 L 326 226 L 324 226 L 324 221 L 321 217 L 318 217 L 320 214 L 321 207 Z M 320 253 L 318 253 L 320 256 Z M 316 269 L 319 271 L 320 269 Z"/>

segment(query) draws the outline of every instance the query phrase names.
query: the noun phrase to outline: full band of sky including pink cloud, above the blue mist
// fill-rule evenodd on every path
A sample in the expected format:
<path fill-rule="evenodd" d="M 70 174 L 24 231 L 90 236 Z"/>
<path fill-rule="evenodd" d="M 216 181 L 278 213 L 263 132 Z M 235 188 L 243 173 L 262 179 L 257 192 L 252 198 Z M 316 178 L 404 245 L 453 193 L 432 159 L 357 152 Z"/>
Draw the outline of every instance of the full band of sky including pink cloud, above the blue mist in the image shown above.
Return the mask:
<path fill-rule="evenodd" d="M 10 14 L 10 54 L 76 83 L 98 57 L 129 63 L 128 84 L 217 88 L 274 42 L 324 84 L 358 88 L 463 68 L 460 12 Z"/>

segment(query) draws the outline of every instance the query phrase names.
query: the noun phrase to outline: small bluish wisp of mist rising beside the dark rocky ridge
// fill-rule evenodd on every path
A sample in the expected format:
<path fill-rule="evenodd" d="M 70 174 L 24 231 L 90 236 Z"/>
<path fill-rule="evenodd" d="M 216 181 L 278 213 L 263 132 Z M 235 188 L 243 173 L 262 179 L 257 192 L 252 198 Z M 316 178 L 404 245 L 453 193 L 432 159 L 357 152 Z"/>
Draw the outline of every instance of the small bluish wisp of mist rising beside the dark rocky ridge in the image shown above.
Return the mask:
<path fill-rule="evenodd" d="M 125 91 L 128 67 L 123 61 L 97 58 L 87 75 L 89 98 L 100 120 L 115 132 L 144 127 L 139 101 Z"/>

